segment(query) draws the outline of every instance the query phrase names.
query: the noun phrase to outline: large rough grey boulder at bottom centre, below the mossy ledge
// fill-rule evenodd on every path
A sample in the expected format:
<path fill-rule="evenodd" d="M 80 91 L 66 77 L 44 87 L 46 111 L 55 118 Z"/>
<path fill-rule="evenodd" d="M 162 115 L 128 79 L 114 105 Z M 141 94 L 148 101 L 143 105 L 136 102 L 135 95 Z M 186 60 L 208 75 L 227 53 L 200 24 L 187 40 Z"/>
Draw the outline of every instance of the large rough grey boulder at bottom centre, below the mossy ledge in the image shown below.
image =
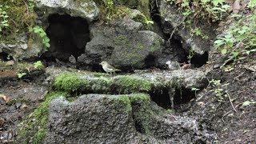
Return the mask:
<path fill-rule="evenodd" d="M 210 142 L 193 118 L 167 114 L 147 94 L 86 94 L 50 102 L 43 143 Z"/>

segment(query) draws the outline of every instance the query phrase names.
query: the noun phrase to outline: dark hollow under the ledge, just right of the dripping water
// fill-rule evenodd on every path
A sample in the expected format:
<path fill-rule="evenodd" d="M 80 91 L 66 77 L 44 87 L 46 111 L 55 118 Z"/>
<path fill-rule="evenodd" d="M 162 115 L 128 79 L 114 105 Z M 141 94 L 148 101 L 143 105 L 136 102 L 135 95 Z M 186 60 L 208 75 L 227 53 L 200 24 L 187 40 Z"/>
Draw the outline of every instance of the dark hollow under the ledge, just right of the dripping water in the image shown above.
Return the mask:
<path fill-rule="evenodd" d="M 195 98 L 193 90 L 186 89 L 185 87 L 176 88 L 174 94 L 174 110 L 181 109 L 182 104 L 189 103 L 193 98 Z"/>

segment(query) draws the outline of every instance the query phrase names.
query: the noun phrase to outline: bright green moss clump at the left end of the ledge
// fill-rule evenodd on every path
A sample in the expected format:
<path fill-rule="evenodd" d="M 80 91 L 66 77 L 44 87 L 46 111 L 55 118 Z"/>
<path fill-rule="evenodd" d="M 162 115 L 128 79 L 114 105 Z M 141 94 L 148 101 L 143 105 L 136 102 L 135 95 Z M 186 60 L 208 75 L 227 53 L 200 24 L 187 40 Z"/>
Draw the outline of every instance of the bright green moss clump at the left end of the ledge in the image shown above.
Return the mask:
<path fill-rule="evenodd" d="M 54 80 L 54 87 L 57 90 L 65 90 L 71 92 L 77 90 L 85 90 L 86 86 L 89 86 L 89 82 L 79 78 L 77 74 L 73 73 L 60 74 Z"/>

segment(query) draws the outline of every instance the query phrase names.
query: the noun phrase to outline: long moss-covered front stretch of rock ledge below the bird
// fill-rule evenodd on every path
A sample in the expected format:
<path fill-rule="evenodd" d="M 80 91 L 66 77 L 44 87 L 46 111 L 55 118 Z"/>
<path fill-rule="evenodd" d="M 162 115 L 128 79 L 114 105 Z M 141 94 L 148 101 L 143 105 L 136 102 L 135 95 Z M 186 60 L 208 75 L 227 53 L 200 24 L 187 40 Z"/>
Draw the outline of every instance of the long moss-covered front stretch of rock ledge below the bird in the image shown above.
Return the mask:
<path fill-rule="evenodd" d="M 145 78 L 131 75 L 97 78 L 76 73 L 64 73 L 55 78 L 53 86 L 54 90 L 83 91 L 86 94 L 131 94 L 148 92 L 153 84 Z"/>

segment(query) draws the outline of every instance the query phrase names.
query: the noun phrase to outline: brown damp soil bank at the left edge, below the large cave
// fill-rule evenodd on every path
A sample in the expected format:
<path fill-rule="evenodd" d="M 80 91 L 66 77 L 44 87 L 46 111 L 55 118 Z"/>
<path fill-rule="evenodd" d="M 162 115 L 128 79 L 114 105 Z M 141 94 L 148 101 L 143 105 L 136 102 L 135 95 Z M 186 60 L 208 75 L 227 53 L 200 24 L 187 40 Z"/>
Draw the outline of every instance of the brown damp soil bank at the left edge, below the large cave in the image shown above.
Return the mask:
<path fill-rule="evenodd" d="M 16 70 L 1 70 L 0 94 L 0 143 L 14 143 L 18 123 L 31 114 L 42 102 L 46 86 L 42 70 L 35 70 L 22 78 L 17 78 Z"/>

